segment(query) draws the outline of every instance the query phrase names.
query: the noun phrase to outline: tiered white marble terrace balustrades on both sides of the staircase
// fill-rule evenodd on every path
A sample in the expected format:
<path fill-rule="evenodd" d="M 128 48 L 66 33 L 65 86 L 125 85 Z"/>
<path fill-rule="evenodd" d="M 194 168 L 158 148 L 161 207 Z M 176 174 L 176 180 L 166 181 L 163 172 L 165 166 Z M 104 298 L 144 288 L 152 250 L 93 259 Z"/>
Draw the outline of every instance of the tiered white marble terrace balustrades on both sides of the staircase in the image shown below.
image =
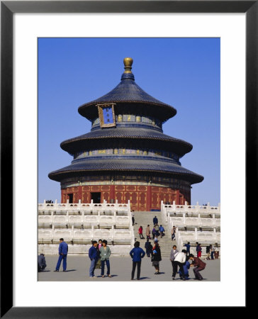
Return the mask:
<path fill-rule="evenodd" d="M 176 226 L 179 250 L 186 242 L 220 246 L 220 204 L 218 206 L 161 203 L 162 220 Z M 59 239 L 69 244 L 69 254 L 86 254 L 91 240 L 106 239 L 112 254 L 128 255 L 135 236 L 128 203 L 39 203 L 38 252 L 57 254 Z M 194 251 L 193 251 L 194 252 Z"/>

